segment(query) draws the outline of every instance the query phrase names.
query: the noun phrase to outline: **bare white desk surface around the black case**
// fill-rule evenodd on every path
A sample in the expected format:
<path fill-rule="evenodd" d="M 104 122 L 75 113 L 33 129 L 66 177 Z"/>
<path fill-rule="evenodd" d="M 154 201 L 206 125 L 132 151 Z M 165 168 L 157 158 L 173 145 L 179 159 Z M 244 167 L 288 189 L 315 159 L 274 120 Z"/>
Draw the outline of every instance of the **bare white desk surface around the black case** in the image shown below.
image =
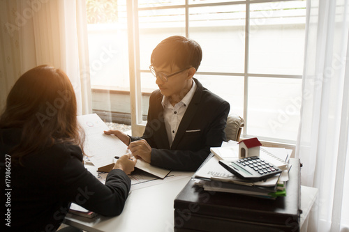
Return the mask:
<path fill-rule="evenodd" d="M 128 196 L 124 211 L 117 217 L 98 215 L 93 219 L 87 219 L 69 215 L 66 217 L 65 224 L 92 232 L 174 231 L 174 198 L 190 178 L 181 178 L 168 183 L 133 190 Z M 309 215 L 317 193 L 318 190 L 313 187 L 301 187 L 301 210 L 303 211 L 300 218 L 301 228 Z"/>

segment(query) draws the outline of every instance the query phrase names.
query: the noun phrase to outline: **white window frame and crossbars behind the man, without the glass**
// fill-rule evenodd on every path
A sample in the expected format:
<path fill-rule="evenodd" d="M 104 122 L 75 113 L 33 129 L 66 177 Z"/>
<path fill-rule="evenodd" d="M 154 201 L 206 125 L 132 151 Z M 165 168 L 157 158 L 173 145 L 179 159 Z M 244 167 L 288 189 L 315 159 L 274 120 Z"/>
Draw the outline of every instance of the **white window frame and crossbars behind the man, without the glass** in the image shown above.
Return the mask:
<path fill-rule="evenodd" d="M 260 74 L 248 72 L 248 59 L 249 59 L 249 29 L 250 29 L 250 6 L 253 3 L 274 3 L 281 1 L 297 1 L 297 0 L 244 0 L 244 1 L 230 1 L 221 3 L 200 3 L 200 4 L 189 4 L 188 0 L 185 0 L 184 5 L 174 6 L 156 6 L 156 7 L 144 7 L 138 8 L 138 0 L 127 1 L 127 18 L 128 18 L 128 46 L 129 46 L 129 61 L 130 61 L 130 94 L 131 94 L 131 125 L 132 133 L 135 136 L 141 136 L 145 124 L 147 121 L 142 120 L 142 92 L 140 86 L 140 75 L 142 72 L 150 72 L 150 70 L 140 69 L 140 43 L 139 43 L 139 24 L 138 24 L 138 11 L 141 10 L 162 10 L 171 8 L 185 8 L 185 33 L 186 38 L 189 36 L 189 9 L 199 8 L 207 6 L 227 6 L 227 5 L 246 5 L 245 15 L 245 54 L 244 54 L 244 73 L 240 72 L 200 72 L 198 75 L 218 75 L 218 76 L 235 76 L 244 78 L 244 114 L 245 126 L 242 130 L 243 138 L 255 137 L 255 135 L 248 134 L 248 78 L 249 77 L 271 77 L 271 78 L 292 78 L 302 79 L 302 75 L 275 75 L 275 74 Z M 271 141 L 281 144 L 295 144 L 296 141 L 260 137 L 258 139 L 262 141 Z"/>

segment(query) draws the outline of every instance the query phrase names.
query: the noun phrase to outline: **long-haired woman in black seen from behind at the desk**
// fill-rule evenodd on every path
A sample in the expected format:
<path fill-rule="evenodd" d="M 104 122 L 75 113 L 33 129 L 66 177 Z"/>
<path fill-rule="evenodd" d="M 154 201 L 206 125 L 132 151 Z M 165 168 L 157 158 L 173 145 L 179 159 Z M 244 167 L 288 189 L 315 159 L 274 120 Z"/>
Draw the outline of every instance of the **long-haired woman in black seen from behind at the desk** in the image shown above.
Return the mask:
<path fill-rule="evenodd" d="M 120 157 L 103 185 L 82 164 L 76 115 L 73 86 L 59 69 L 40 65 L 11 89 L 0 116 L 7 229 L 56 231 L 72 202 L 105 216 L 122 212 L 137 160 Z"/>

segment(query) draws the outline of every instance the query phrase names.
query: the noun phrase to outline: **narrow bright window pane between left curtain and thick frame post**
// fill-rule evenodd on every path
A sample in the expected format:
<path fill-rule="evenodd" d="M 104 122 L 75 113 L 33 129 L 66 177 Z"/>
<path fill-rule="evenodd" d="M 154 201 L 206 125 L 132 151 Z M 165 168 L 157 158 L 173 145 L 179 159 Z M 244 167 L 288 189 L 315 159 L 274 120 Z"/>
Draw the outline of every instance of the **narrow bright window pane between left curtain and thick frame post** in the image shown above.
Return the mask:
<path fill-rule="evenodd" d="M 126 1 L 86 3 L 91 86 L 129 91 Z"/>

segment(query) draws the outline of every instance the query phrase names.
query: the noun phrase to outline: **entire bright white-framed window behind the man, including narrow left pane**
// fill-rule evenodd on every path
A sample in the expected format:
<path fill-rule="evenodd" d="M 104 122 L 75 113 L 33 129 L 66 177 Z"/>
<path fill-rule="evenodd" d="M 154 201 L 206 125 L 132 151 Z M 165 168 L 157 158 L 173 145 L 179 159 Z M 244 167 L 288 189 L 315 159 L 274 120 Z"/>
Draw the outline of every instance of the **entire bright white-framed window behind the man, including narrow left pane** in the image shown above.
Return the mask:
<path fill-rule="evenodd" d="M 230 102 L 230 113 L 244 117 L 242 137 L 295 143 L 306 1 L 133 0 L 113 3 L 117 4 L 117 23 L 108 24 L 111 28 L 106 29 L 104 36 L 100 32 L 94 36 L 100 36 L 96 41 L 100 42 L 99 47 L 106 46 L 105 49 L 109 48 L 105 41 L 118 41 L 110 45 L 112 51 L 117 52 L 110 63 L 103 63 L 98 62 L 101 49 L 97 49 L 99 53 L 92 57 L 96 67 L 102 63 L 103 68 L 92 76 L 92 84 L 96 89 L 98 86 L 131 89 L 133 107 L 130 111 L 133 127 L 140 127 L 137 131 L 142 131 L 144 126 L 149 94 L 157 88 L 148 69 L 152 49 L 164 38 L 180 35 L 202 46 L 202 63 L 195 77 Z M 89 42 L 92 28 L 90 25 Z M 112 29 L 114 38 L 110 35 L 107 39 L 105 35 L 113 33 Z M 106 69 L 107 65 L 110 70 Z"/>

